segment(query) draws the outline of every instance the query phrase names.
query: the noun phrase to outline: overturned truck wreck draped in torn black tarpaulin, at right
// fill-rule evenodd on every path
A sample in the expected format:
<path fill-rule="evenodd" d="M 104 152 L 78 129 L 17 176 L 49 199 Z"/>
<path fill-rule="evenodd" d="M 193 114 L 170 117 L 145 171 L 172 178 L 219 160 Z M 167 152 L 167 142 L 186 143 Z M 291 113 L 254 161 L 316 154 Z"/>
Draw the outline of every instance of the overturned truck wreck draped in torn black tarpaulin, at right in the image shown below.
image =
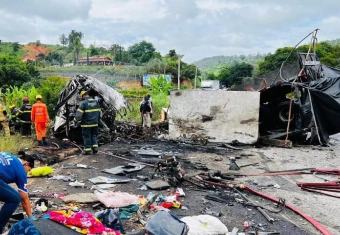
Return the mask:
<path fill-rule="evenodd" d="M 297 58 L 297 64 L 238 89 L 263 87 L 258 89 L 260 138 L 327 145 L 329 136 L 340 132 L 340 70 L 321 64 L 313 53 Z"/>

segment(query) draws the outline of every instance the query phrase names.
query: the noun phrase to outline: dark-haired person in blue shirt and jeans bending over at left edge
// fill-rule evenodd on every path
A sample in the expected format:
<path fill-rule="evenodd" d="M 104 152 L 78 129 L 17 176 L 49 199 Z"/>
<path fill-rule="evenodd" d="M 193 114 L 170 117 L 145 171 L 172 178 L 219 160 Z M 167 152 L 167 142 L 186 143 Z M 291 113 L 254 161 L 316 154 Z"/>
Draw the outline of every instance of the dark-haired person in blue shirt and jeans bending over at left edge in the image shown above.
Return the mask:
<path fill-rule="evenodd" d="M 4 203 L 0 210 L 0 234 L 20 202 L 28 218 L 35 220 L 27 191 L 27 172 L 34 168 L 34 158 L 21 151 L 18 156 L 0 152 L 0 201 Z M 18 186 L 18 191 L 8 185 L 11 183 Z"/>

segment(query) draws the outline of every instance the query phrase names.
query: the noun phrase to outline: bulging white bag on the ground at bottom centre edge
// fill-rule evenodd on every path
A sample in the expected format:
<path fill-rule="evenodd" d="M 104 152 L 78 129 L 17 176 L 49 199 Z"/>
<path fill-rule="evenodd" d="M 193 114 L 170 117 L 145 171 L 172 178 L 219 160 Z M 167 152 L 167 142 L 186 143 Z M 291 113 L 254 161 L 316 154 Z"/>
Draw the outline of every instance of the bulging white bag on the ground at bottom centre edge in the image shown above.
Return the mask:
<path fill-rule="evenodd" d="M 222 235 L 228 228 L 211 215 L 186 216 L 181 219 L 189 226 L 188 235 Z"/>

